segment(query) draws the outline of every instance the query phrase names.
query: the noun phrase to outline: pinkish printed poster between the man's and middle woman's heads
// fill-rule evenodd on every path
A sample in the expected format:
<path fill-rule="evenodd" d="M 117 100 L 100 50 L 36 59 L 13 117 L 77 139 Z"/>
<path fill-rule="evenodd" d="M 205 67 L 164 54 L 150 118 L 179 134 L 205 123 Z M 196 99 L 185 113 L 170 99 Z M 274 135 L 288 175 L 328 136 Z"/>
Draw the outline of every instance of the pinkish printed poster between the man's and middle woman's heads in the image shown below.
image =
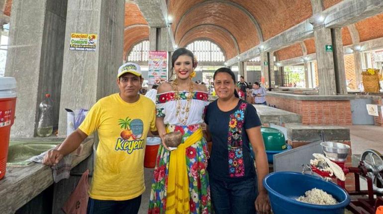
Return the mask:
<path fill-rule="evenodd" d="M 159 85 L 168 80 L 168 52 L 149 51 L 148 85 Z"/>

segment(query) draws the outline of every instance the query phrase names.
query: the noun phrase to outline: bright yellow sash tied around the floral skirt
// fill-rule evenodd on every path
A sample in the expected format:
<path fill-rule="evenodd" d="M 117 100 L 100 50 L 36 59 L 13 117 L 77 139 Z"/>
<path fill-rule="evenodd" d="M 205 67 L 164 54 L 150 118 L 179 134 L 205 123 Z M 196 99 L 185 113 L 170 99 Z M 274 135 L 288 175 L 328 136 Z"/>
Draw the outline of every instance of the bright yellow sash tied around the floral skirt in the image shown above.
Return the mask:
<path fill-rule="evenodd" d="M 184 143 L 170 153 L 166 214 L 189 214 L 189 178 L 186 168 L 186 148 L 202 139 L 198 128 Z"/>

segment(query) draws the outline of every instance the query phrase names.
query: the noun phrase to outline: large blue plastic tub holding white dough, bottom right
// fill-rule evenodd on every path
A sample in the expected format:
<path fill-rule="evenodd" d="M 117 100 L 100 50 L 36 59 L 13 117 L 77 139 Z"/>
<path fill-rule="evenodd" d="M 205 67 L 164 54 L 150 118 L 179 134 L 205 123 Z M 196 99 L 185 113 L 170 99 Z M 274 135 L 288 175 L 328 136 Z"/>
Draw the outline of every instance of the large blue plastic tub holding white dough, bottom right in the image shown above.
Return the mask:
<path fill-rule="evenodd" d="M 274 172 L 265 177 L 263 185 L 269 192 L 274 214 L 344 214 L 350 204 L 350 196 L 338 185 L 323 179 L 298 172 Z M 313 205 L 295 199 L 313 188 L 332 195 L 336 205 Z"/>

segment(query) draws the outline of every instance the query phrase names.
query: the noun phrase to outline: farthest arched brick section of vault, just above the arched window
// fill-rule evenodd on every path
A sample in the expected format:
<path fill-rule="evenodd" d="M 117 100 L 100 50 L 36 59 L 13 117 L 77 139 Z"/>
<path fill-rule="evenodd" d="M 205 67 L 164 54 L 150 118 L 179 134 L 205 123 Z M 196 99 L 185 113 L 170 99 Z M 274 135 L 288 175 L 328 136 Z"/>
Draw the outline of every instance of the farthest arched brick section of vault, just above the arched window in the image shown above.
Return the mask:
<path fill-rule="evenodd" d="M 231 59 L 237 56 L 237 46 L 235 41 L 230 37 L 227 32 L 218 27 L 200 25 L 193 28 L 191 31 L 185 34 L 183 39 L 180 41 L 180 47 L 186 47 L 189 43 L 197 39 L 209 39 L 221 47 L 226 59 Z"/>

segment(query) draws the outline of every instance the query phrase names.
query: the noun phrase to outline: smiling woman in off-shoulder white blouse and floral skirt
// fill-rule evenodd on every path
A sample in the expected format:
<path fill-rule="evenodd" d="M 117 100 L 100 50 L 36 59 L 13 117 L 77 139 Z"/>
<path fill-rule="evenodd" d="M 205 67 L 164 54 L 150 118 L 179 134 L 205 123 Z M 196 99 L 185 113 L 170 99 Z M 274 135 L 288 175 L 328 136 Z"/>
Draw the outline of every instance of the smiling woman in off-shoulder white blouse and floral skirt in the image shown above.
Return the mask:
<path fill-rule="evenodd" d="M 177 49 L 172 57 L 176 79 L 158 88 L 156 126 L 162 139 L 180 131 L 182 143 L 160 145 L 149 201 L 149 214 L 210 213 L 208 151 L 202 136 L 203 112 L 209 104 L 206 86 L 194 84 L 196 61 L 191 51 Z"/>

